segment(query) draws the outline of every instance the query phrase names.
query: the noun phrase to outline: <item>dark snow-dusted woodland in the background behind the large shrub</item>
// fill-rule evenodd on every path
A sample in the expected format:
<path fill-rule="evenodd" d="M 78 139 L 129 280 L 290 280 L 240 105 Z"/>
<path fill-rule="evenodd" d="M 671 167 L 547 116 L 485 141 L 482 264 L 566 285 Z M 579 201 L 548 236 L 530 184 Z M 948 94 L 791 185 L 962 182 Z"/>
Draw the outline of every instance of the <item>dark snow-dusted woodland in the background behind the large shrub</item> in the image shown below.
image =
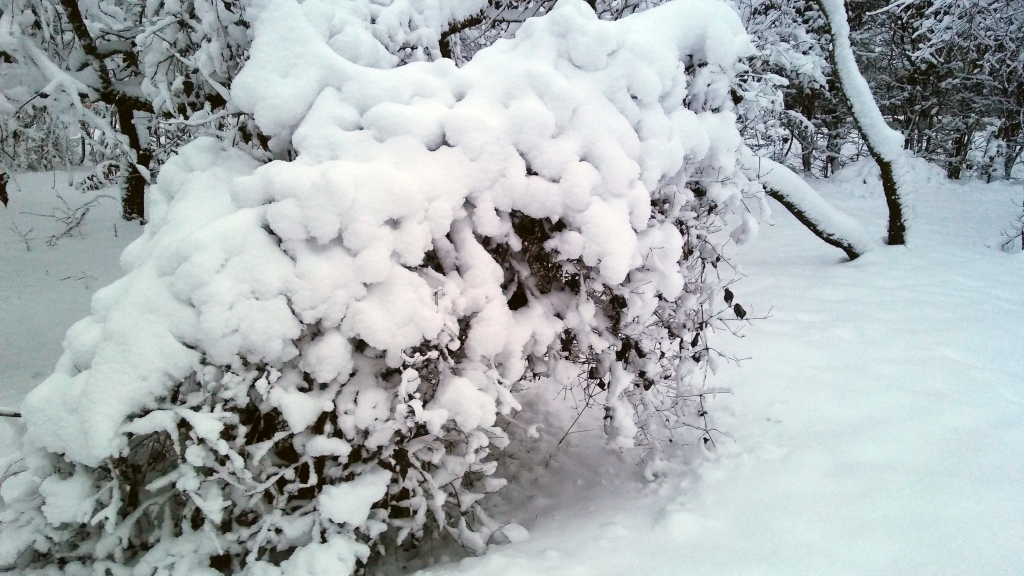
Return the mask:
<path fill-rule="evenodd" d="M 463 65 L 553 4 L 498 2 L 481 10 L 454 3 L 429 13 L 399 3 L 384 11 L 393 19 L 368 25 L 392 55 L 375 64 L 452 58 Z M 602 19 L 614 20 L 656 4 L 608 2 L 594 8 Z M 251 120 L 228 106 L 228 89 L 252 40 L 245 3 L 83 4 L 77 19 L 91 27 L 93 53 L 112 75 L 102 78 L 94 70 L 99 78 L 87 81 L 55 76 L 97 66 L 67 16 L 73 5 L 5 7 L 0 141 L 8 171 L 115 161 L 128 174 L 130 163 L 122 164 L 129 151 L 136 160 L 143 155 L 140 164 L 158 166 L 211 129 L 237 132 L 240 142 L 257 138 L 254 146 L 261 146 Z M 748 142 L 772 160 L 822 177 L 864 156 L 829 64 L 829 33 L 818 5 L 738 2 L 734 7 L 758 49 L 733 87 Z M 847 9 L 861 71 L 884 116 L 906 136 L 907 149 L 950 178 L 1009 177 L 1022 151 L 1020 6 L 857 1 Z M 374 9 L 362 10 L 377 17 Z M 42 53 L 24 53 L 22 35 Z M 76 80 L 100 84 L 76 98 L 66 93 Z M 63 81 L 71 85 L 61 90 Z M 104 88 L 104 81 L 111 85 Z M 208 120 L 212 116 L 218 118 Z M 122 132 L 125 120 L 141 124 L 146 137 L 134 141 L 130 130 Z"/>

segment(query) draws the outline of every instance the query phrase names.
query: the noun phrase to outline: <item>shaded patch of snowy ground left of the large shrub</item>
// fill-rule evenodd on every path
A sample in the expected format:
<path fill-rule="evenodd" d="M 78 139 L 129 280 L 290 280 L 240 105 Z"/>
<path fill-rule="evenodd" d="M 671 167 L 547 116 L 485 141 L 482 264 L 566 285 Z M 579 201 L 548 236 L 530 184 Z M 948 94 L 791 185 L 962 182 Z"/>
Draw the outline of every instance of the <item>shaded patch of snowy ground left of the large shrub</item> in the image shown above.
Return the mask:
<path fill-rule="evenodd" d="M 10 204 L 0 207 L 0 407 L 53 371 L 65 331 L 89 314 L 93 292 L 123 274 L 118 256 L 142 233 L 120 218 L 120 202 L 106 197 L 116 191 L 79 192 L 65 172 L 15 174 L 8 192 Z M 82 225 L 51 242 L 68 229 L 57 218 L 81 214 L 93 199 Z"/>

